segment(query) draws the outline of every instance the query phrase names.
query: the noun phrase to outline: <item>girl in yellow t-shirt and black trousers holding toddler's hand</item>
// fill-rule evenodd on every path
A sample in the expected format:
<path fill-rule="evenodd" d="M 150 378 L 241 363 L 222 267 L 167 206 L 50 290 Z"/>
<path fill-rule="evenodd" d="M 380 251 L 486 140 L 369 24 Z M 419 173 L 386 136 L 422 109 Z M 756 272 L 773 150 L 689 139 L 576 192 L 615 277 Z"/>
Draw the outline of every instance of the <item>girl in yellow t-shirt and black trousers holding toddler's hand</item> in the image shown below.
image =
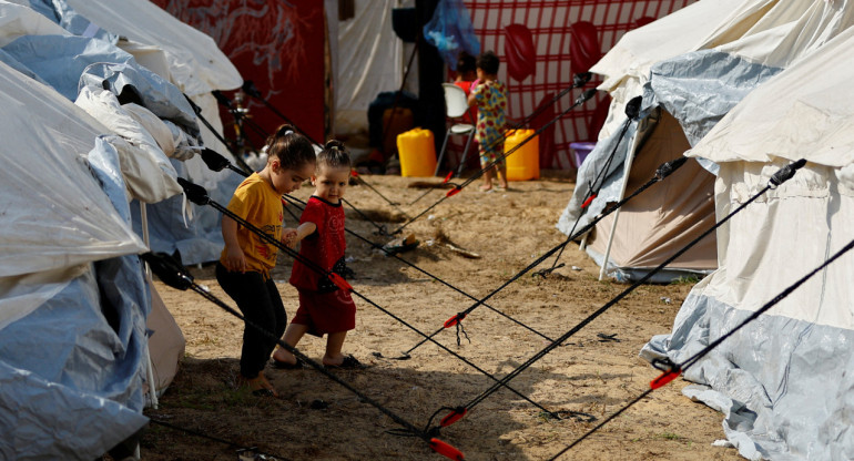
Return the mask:
<path fill-rule="evenodd" d="M 282 227 L 282 194 L 289 193 L 314 174 L 315 155 L 308 140 L 291 125 L 282 125 L 267 140 L 267 164 L 237 186 L 228 211 L 267 235 L 288 243 L 296 230 Z M 223 248 L 216 264 L 216 280 L 234 299 L 246 321 L 270 328 L 271 336 L 244 326 L 241 378 L 256 396 L 277 392 L 262 370 L 287 325 L 285 307 L 270 273 L 277 248 L 261 236 L 223 216 Z"/>

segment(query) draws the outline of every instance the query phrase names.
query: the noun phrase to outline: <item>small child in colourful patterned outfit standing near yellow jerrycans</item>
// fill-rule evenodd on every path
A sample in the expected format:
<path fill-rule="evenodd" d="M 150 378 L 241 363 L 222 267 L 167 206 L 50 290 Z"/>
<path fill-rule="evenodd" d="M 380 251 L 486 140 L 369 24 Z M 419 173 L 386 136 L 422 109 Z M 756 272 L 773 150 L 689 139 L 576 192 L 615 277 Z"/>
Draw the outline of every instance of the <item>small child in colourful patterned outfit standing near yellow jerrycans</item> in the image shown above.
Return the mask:
<path fill-rule="evenodd" d="M 476 139 L 480 143 L 480 165 L 495 162 L 495 166 L 484 172 L 481 191 L 492 188 L 492 180 L 498 175 L 498 185 L 507 188 L 507 164 L 504 160 L 504 135 L 507 124 L 507 86 L 498 80 L 498 57 L 487 51 L 477 59 L 478 80 L 471 85 L 468 105 L 477 106 Z"/>

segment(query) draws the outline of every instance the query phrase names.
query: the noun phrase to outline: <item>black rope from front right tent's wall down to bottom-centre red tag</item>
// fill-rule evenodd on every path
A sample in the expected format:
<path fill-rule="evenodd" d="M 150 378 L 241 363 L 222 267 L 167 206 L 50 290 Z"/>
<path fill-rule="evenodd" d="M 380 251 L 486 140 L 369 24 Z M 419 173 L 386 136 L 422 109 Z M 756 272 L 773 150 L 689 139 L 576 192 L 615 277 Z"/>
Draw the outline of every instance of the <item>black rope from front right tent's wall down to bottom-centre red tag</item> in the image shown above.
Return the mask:
<path fill-rule="evenodd" d="M 682 157 L 682 158 L 684 158 L 684 157 Z M 703 233 L 702 233 L 700 236 L 698 236 L 697 238 L 694 238 L 693 240 L 691 240 L 691 242 L 690 242 L 688 245 L 685 245 L 684 247 L 682 247 L 682 248 L 680 248 L 679 250 L 677 250 L 677 252 L 675 252 L 673 255 L 671 255 L 670 257 L 668 257 L 668 258 L 667 258 L 667 259 L 665 259 L 663 263 L 661 263 L 660 265 L 658 265 L 658 266 L 657 266 L 654 269 L 652 269 L 651 272 L 649 272 L 649 273 L 648 273 L 647 275 L 644 275 L 644 276 L 643 276 L 641 279 L 639 279 L 638 281 L 636 281 L 634 284 L 632 284 L 632 285 L 631 285 L 629 288 L 624 289 L 622 293 L 620 293 L 619 295 L 617 295 L 617 296 L 616 296 L 613 299 L 611 299 L 610 301 L 606 303 L 606 304 L 604 304 L 602 307 L 600 307 L 599 309 L 597 309 L 597 310 L 596 310 L 593 314 L 589 315 L 587 318 L 584 318 L 583 320 L 581 320 L 581 321 L 580 321 L 578 325 L 576 325 L 576 326 L 575 326 L 572 329 L 570 329 L 569 331 L 567 331 L 566 334 L 563 334 L 563 335 L 562 335 L 562 336 L 561 336 L 561 337 L 558 339 L 558 341 L 555 341 L 555 342 L 552 342 L 552 344 L 548 345 L 546 348 L 543 348 L 543 349 L 542 349 L 542 350 L 540 350 L 539 352 L 535 354 L 535 355 L 533 355 L 533 356 L 532 356 L 530 359 L 528 359 L 528 360 L 527 360 L 525 363 L 520 365 L 520 366 L 519 366 L 519 367 L 517 367 L 515 370 L 512 370 L 512 371 L 510 371 L 509 373 L 507 373 L 507 375 L 506 375 L 506 376 L 505 376 L 505 377 L 501 379 L 501 381 L 504 381 L 504 382 L 509 382 L 510 380 L 512 380 L 514 378 L 516 378 L 517 376 L 519 376 L 519 373 L 521 373 L 521 372 L 522 372 L 523 370 L 526 370 L 528 367 L 530 367 L 531 365 L 533 365 L 533 362 L 536 362 L 537 360 L 541 359 L 541 358 L 542 358 L 542 357 L 545 357 L 547 354 L 549 354 L 550 351 L 552 351 L 552 350 L 553 350 L 555 348 L 557 348 L 557 347 L 558 347 L 560 344 L 562 344 L 563 341 L 566 341 L 567 339 L 569 339 L 569 338 L 570 338 L 572 335 L 575 335 L 576 332 L 578 332 L 578 331 L 579 331 L 581 328 L 586 327 L 588 324 L 590 324 L 591 321 L 593 321 L 593 319 L 596 319 L 597 317 L 599 317 L 600 315 L 602 315 L 604 311 L 607 311 L 608 309 L 610 309 L 610 308 L 611 308 L 613 305 L 616 305 L 617 303 L 619 303 L 619 301 L 620 301 L 622 298 L 624 298 L 626 296 L 628 296 L 628 295 L 629 295 L 629 293 L 633 291 L 633 290 L 634 290 L 637 287 L 639 287 L 641 284 L 643 284 L 644 281 L 649 280 L 649 279 L 650 279 L 650 278 L 651 278 L 653 275 L 655 275 L 658 272 L 660 272 L 662 268 L 664 268 L 664 267 L 665 267 L 668 264 L 672 263 L 674 259 L 677 259 L 678 257 L 682 256 L 682 255 L 683 255 L 685 252 L 688 252 L 688 250 L 689 250 L 691 247 L 693 247 L 694 245 L 697 245 L 697 243 L 699 243 L 701 239 L 705 238 L 705 237 L 706 237 L 709 234 L 711 234 L 712 232 L 714 232 L 714 230 L 715 230 L 718 227 L 722 226 L 724 223 L 726 223 L 728 221 L 730 221 L 730 218 L 732 218 L 732 217 L 733 217 L 735 214 L 738 214 L 738 213 L 739 213 L 739 212 L 741 212 L 742 209 L 746 208 L 746 207 L 748 207 L 748 205 L 750 205 L 750 204 L 751 204 L 751 203 L 753 203 L 753 202 L 754 202 L 756 198 L 759 198 L 760 196 L 762 196 L 762 195 L 763 195 L 763 194 L 764 194 L 766 191 L 769 191 L 769 189 L 770 189 L 770 188 L 772 188 L 772 187 L 776 187 L 777 185 L 780 185 L 780 184 L 782 184 L 783 182 L 785 182 L 785 181 L 787 181 L 789 178 L 791 178 L 791 177 L 794 175 L 795 171 L 797 171 L 799 168 L 801 168 L 801 167 L 802 167 L 802 166 L 803 166 L 805 163 L 806 163 L 805 161 L 801 160 L 801 161 L 797 161 L 797 162 L 791 163 L 791 164 L 789 164 L 789 165 L 784 166 L 783 168 L 781 168 L 779 172 L 776 172 L 776 173 L 775 173 L 775 174 L 772 176 L 772 182 L 771 182 L 771 183 L 770 183 L 767 186 L 765 186 L 765 187 L 764 187 L 764 188 L 762 188 L 760 192 L 758 192 L 755 195 L 753 195 L 752 197 L 750 197 L 750 198 L 749 198 L 748 201 L 745 201 L 745 202 L 744 202 L 744 203 L 743 203 L 741 206 L 739 206 L 738 208 L 735 208 L 734 211 L 732 211 L 732 213 L 730 213 L 729 215 L 724 216 L 724 217 L 723 217 L 723 218 L 722 218 L 720 222 L 718 222 L 718 223 L 716 223 L 716 224 L 714 224 L 712 227 L 710 227 L 709 229 L 706 229 L 705 232 L 703 232 Z M 487 397 L 489 397 L 491 393 L 494 393 L 494 392 L 495 392 L 495 391 L 497 391 L 498 389 L 499 389 L 499 387 L 497 387 L 496 385 L 494 385 L 492 387 L 490 387 L 489 389 L 487 389 L 486 391 L 484 391 L 482 393 L 480 393 L 478 397 L 476 397 L 475 399 L 472 399 L 472 400 L 471 400 L 471 401 L 470 401 L 468 404 L 466 404 L 466 408 L 468 408 L 468 409 L 471 409 L 472 407 L 475 407 L 475 406 L 477 406 L 478 403 L 480 403 L 481 401 L 484 401 L 484 400 L 485 400 Z"/>

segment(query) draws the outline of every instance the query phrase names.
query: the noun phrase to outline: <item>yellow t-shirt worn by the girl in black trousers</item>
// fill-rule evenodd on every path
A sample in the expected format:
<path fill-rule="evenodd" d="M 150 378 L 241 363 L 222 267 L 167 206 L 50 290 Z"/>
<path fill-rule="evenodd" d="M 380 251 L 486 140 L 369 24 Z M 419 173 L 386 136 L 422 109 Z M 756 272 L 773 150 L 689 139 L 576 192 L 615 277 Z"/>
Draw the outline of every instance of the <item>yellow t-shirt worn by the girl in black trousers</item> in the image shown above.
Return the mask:
<path fill-rule="evenodd" d="M 282 206 L 284 206 L 282 196 L 257 173 L 244 180 L 228 202 L 228 211 L 277 242 L 282 240 L 284 219 Z M 246 269 L 270 276 L 270 272 L 276 265 L 278 248 L 248 230 L 240 222 L 237 223 L 237 243 L 246 257 Z M 224 248 L 220 255 L 220 262 L 223 260 L 225 260 Z"/>

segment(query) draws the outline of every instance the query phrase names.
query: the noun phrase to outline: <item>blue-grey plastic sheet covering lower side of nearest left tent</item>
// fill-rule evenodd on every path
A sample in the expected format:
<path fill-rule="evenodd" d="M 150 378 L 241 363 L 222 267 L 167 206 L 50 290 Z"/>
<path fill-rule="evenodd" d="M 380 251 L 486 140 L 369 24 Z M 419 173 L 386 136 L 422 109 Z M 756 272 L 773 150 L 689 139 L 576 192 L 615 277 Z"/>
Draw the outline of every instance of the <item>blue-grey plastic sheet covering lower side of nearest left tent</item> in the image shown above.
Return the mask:
<path fill-rule="evenodd" d="M 88 158 L 130 225 L 118 153 L 98 139 Z M 55 295 L 0 330 L 3 460 L 92 460 L 148 422 L 142 376 L 150 300 L 140 258 L 100 260 L 55 285 L 33 287 Z"/>

